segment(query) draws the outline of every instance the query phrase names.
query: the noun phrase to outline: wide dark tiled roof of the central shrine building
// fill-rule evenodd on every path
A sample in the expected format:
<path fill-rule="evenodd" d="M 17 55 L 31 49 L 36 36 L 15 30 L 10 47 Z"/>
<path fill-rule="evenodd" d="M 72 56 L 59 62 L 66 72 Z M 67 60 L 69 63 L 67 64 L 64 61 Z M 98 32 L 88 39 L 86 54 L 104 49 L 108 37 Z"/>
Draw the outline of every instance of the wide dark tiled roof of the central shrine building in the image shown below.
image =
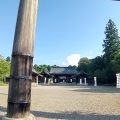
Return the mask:
<path fill-rule="evenodd" d="M 77 71 L 75 67 L 51 67 L 50 74 L 76 74 Z"/>

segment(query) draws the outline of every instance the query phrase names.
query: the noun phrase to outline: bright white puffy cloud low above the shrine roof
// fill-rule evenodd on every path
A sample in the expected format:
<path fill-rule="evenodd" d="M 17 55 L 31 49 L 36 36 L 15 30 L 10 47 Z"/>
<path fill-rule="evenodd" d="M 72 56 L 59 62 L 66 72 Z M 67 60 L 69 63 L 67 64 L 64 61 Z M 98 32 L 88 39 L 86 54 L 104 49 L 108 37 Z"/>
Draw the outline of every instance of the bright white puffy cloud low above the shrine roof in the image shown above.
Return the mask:
<path fill-rule="evenodd" d="M 80 60 L 80 54 L 72 54 L 67 56 L 66 60 L 62 63 L 63 66 L 76 65 L 78 66 L 78 61 Z"/>

